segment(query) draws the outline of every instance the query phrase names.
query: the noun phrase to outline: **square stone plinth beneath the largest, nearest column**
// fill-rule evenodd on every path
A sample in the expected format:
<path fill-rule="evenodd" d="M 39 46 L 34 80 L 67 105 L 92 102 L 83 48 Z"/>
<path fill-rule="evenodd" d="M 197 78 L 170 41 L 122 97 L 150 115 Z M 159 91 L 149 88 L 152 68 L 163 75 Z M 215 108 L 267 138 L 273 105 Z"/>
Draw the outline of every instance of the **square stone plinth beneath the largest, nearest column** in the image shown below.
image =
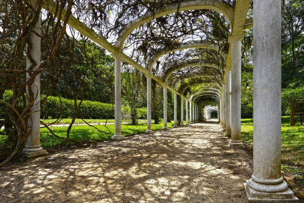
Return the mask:
<path fill-rule="evenodd" d="M 277 193 L 266 193 L 250 188 L 248 186 L 248 180 L 246 183 L 244 183 L 244 188 L 249 203 L 296 203 L 299 201 L 289 188 Z M 265 187 L 267 187 L 267 185 L 265 185 Z"/>

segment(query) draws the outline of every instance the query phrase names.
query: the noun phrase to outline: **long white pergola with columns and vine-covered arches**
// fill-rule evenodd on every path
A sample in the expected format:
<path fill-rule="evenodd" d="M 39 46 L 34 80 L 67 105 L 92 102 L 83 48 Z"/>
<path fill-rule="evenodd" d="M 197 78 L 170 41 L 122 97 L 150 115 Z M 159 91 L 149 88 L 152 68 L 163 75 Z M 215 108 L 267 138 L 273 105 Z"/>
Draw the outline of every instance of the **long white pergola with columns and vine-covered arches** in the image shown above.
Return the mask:
<path fill-rule="evenodd" d="M 32 0 L 34 8 L 36 0 Z M 135 17 L 121 29 L 115 43 L 110 43 L 94 29 L 71 15 L 68 24 L 83 35 L 108 50 L 115 58 L 115 135 L 112 139 L 125 139 L 121 133 L 121 67 L 122 60 L 141 71 L 147 77 L 147 133 L 152 133 L 151 80 L 163 86 L 164 129 L 167 128 L 167 89 L 174 94 L 174 127 L 177 126 L 177 95 L 181 98 L 181 125 L 183 125 L 183 100 L 185 100 L 186 124 L 197 122 L 199 115 L 210 118 L 212 111 L 219 112 L 219 119 L 226 134 L 231 135 L 229 147 L 244 147 L 241 141 L 241 40 L 244 30 L 253 27 L 254 35 L 254 172 L 244 184 L 249 202 L 296 202 L 298 199 L 288 189 L 281 176 L 281 1 L 254 0 L 253 17 L 248 18 L 251 0 L 236 0 L 231 6 L 224 0 L 189 0 L 168 4 L 152 12 Z M 64 18 L 66 12 L 56 12 L 56 3 L 46 0 L 42 6 L 52 14 Z M 171 13 L 210 9 L 226 18 L 230 26 L 227 51 L 220 42 L 183 42 L 175 47 L 164 47 L 143 63 L 128 56 L 124 44 L 128 36 L 140 26 Z M 35 32 L 40 33 L 40 22 Z M 40 64 L 40 38 L 32 32 L 29 38 L 31 57 Z M 177 61 L 175 65 L 162 64 L 160 74 L 153 72 L 154 64 L 161 57 L 178 51 L 190 51 L 191 60 Z M 214 55 L 198 57 L 197 54 Z M 192 55 L 191 55 L 192 54 Z M 195 55 L 196 54 L 196 55 Z M 195 56 L 194 56 L 195 55 Z M 209 57 L 210 58 L 210 57 Z M 195 60 L 194 60 L 195 59 Z M 216 60 L 218 59 L 218 60 Z M 32 65 L 28 59 L 27 67 Z M 183 71 L 187 68 L 187 71 Z M 158 74 L 158 75 L 157 75 Z M 38 88 L 33 87 L 36 105 L 31 108 L 32 133 L 23 153 L 28 156 L 46 153 L 40 146 L 40 76 L 35 77 Z M 191 91 L 192 87 L 198 87 Z M 35 90 L 37 89 L 38 92 Z M 36 92 L 35 92 L 36 91 Z M 189 105 L 188 105 L 189 103 Z M 215 106 L 214 104 L 217 104 Z M 188 121 L 188 114 L 189 121 Z"/>

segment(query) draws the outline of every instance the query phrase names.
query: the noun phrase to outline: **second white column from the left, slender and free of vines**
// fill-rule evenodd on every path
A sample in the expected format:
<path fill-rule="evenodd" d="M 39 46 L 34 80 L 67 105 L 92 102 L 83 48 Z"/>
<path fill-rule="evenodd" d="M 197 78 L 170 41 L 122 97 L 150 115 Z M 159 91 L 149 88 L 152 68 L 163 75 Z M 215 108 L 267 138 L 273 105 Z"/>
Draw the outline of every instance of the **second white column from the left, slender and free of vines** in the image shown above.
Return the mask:
<path fill-rule="evenodd" d="M 121 82 L 121 57 L 115 57 L 115 134 L 111 137 L 114 140 L 124 140 L 122 135 L 122 82 Z"/>

